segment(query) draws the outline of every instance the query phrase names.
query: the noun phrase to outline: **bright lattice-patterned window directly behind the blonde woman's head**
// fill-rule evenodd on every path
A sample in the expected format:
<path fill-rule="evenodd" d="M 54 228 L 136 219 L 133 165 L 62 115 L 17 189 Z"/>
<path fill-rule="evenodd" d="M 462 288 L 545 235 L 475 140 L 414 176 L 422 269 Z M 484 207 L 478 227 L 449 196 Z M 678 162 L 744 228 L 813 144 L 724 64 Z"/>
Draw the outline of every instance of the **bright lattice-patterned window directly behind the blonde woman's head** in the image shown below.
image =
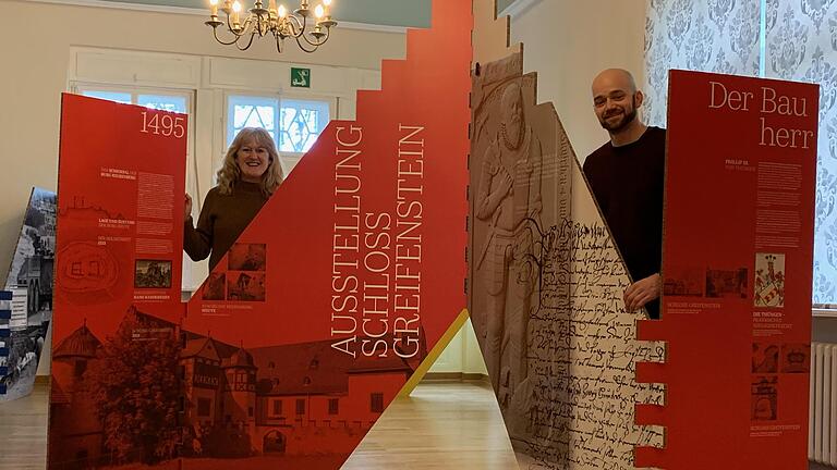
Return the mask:
<path fill-rule="evenodd" d="M 227 100 L 227 145 L 244 127 L 263 127 L 280 152 L 304 153 L 330 120 L 328 100 L 232 95 Z"/>

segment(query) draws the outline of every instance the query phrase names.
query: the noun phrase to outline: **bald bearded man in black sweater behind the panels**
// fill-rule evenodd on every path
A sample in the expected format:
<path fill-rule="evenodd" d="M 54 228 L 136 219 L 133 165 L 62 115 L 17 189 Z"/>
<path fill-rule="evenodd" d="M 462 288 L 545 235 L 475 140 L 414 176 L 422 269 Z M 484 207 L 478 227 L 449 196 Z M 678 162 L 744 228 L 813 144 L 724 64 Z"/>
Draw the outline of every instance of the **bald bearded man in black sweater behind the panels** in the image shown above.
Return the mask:
<path fill-rule="evenodd" d="M 624 290 L 626 307 L 659 318 L 666 131 L 639 118 L 643 95 L 628 71 L 603 71 L 592 89 L 610 140 L 584 160 L 584 174 L 634 281 Z"/>

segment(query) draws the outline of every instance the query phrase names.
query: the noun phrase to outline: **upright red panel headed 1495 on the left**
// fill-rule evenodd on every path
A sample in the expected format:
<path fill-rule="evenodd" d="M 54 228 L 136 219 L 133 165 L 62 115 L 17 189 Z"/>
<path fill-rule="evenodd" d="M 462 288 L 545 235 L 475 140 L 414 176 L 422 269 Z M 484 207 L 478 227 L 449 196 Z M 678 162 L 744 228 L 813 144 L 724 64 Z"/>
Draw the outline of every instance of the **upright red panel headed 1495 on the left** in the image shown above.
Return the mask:
<path fill-rule="evenodd" d="M 148 454 L 126 446 L 177 423 L 186 127 L 182 114 L 62 97 L 49 468 Z"/>

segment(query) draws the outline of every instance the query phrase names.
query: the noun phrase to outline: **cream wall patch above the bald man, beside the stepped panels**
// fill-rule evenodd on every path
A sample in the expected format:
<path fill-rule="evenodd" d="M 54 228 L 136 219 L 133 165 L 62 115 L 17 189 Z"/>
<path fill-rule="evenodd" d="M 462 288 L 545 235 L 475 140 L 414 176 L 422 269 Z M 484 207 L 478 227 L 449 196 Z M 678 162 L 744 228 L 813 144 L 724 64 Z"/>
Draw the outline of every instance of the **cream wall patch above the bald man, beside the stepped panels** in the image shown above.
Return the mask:
<path fill-rule="evenodd" d="M 643 82 L 645 3 L 518 0 L 509 9 L 511 40 L 523 42 L 524 71 L 538 73 L 538 100 L 555 104 L 581 161 L 607 140 L 593 114 L 593 77 L 620 67 Z"/>

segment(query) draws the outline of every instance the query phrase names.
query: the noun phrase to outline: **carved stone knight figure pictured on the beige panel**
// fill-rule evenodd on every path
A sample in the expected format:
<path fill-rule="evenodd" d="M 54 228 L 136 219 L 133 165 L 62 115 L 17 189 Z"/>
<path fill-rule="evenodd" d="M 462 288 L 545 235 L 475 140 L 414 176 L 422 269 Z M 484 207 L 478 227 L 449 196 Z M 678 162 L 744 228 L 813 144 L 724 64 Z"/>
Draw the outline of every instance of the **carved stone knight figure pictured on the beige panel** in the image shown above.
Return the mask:
<path fill-rule="evenodd" d="M 533 227 L 541 209 L 541 141 L 526 123 L 523 95 L 512 79 L 495 92 L 500 122 L 483 157 L 475 215 L 486 221 L 476 269 L 489 296 L 485 311 L 486 364 L 500 406 L 526 378 L 527 324 L 537 271 Z"/>

